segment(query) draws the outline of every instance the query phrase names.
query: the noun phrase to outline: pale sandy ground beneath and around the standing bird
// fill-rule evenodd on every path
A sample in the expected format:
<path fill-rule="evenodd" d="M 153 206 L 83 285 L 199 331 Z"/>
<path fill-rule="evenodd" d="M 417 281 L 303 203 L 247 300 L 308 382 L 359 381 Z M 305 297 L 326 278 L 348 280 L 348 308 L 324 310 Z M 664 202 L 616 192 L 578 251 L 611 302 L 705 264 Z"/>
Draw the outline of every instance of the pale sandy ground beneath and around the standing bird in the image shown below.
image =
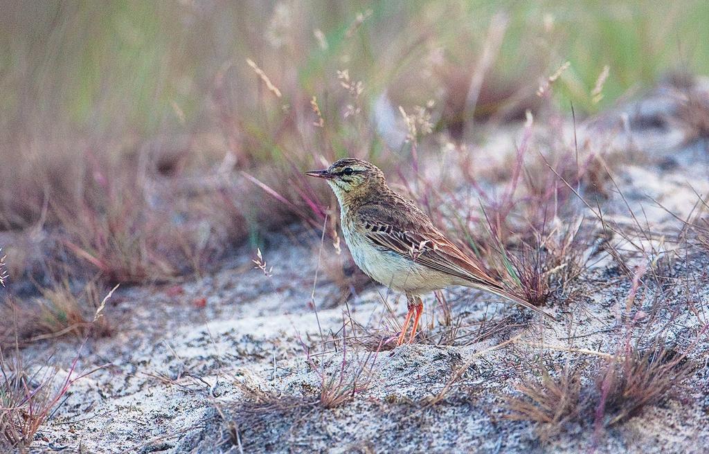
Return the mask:
<path fill-rule="evenodd" d="M 630 208 L 644 210 L 643 222 L 647 219 L 656 232 L 680 226 L 666 210 L 687 215 L 696 203 L 693 191 L 709 192 L 709 159 L 675 133 L 671 128 L 630 136 L 615 132 L 611 141 L 618 149 L 632 144 L 647 156 L 624 164 L 617 183 Z M 618 191 L 610 191 L 603 209 L 619 222 L 630 219 Z M 659 244 L 671 250 L 669 241 Z M 519 395 L 521 380 L 542 356 L 550 365 L 589 368 L 598 356 L 581 348 L 613 353 L 622 341 L 617 315 L 631 283 L 608 254 L 593 260 L 578 278 L 576 285 L 590 297 L 549 308 L 559 322 L 543 322 L 495 297 L 452 288 L 445 295 L 454 319 L 462 321 L 454 345 L 429 341 L 373 353 L 366 338 L 348 342 L 344 352 L 342 341 L 319 347 L 318 339 L 320 333 L 340 337 L 345 322 L 352 336 L 350 319 L 396 331 L 396 317 L 382 299 L 400 319 L 406 305 L 399 295 L 374 285 L 351 297 L 347 307 L 339 305 L 341 290 L 320 270 L 316 312 L 311 292 L 319 245 L 318 237 L 294 227 L 267 239 L 264 259 L 273 266 L 271 277 L 253 267 L 255 251 L 244 248 L 203 278 L 119 289 L 109 308 L 118 320 L 115 333 L 89 340 L 78 370 L 106 366 L 74 383 L 60 410 L 40 429 L 33 451 L 650 454 L 700 453 L 709 446 L 706 339 L 689 353 L 696 368 L 688 392 L 644 409 L 600 437 L 592 421 L 581 421 L 541 443 L 534 424 L 506 418 L 510 396 Z M 327 242 L 323 254 L 335 254 Z M 643 329 L 652 332 L 674 317 L 662 336 L 678 346 L 692 345 L 708 302 L 706 259 L 693 251 L 687 260 L 671 264 L 672 276 L 696 283 L 692 295 L 699 315 L 688 310 L 680 288 L 671 289 L 664 294 L 676 310 L 665 309 L 647 326 L 641 319 Z M 635 259 L 636 264 L 645 260 L 642 254 Z M 650 313 L 653 296 L 647 291 L 635 304 Z M 432 295 L 425 303 L 424 333 L 437 339 L 435 334 L 448 328 Z M 310 360 L 306 345 L 315 345 Z M 68 339 L 38 344 L 26 354 L 52 353 L 55 363 L 69 364 L 78 348 Z M 362 389 L 350 402 L 332 409 L 313 403 L 323 376 L 337 382 L 343 367 L 362 364 Z M 58 376 L 66 373 L 60 370 Z M 459 380 L 431 404 L 456 374 Z"/>

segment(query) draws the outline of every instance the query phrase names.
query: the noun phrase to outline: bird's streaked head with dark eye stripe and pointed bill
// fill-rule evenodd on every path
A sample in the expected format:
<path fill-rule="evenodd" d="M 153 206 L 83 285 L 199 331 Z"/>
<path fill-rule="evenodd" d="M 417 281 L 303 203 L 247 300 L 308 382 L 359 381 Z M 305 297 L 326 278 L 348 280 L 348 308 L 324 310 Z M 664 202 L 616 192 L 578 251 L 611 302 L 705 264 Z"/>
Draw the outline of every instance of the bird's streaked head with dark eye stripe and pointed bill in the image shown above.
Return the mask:
<path fill-rule="evenodd" d="M 309 171 L 306 175 L 324 178 L 333 188 L 340 205 L 352 198 L 362 198 L 386 187 L 384 173 L 374 164 L 356 158 L 343 158 L 323 170 Z"/>

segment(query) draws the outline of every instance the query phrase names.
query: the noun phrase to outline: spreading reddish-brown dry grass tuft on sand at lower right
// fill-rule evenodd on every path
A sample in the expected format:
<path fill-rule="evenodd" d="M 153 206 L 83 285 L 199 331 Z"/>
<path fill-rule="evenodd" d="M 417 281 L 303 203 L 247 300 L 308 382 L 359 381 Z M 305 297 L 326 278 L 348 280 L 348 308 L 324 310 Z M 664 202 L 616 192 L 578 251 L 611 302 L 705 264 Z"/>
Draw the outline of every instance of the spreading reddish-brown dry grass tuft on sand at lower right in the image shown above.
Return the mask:
<path fill-rule="evenodd" d="M 573 425 L 593 431 L 598 441 L 605 428 L 680 397 L 692 370 L 686 353 L 659 341 L 598 358 L 590 368 L 566 363 L 548 370 L 542 365 L 540 378 L 526 378 L 519 394 L 508 399 L 507 417 L 534 423 L 544 443 Z"/>

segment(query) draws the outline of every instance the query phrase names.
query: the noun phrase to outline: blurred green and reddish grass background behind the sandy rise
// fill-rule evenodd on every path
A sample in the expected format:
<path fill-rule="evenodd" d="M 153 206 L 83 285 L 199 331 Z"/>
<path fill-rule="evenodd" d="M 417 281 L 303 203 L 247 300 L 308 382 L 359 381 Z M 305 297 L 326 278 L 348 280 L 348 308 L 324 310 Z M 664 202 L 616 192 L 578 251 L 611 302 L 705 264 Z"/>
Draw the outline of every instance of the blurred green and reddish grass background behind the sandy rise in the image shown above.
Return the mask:
<path fill-rule="evenodd" d="M 406 175 L 527 110 L 582 119 L 709 69 L 702 0 L 1 11 L 0 247 L 18 295 L 203 273 L 264 232 L 322 228 L 332 195 L 304 170 L 354 155 Z"/>

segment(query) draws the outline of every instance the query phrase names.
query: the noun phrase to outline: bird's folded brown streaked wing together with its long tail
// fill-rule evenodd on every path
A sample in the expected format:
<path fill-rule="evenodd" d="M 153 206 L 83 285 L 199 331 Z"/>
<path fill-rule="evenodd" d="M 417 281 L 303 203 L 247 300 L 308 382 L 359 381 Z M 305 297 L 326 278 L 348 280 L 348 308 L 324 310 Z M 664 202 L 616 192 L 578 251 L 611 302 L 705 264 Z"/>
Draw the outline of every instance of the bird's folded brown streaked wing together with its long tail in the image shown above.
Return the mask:
<path fill-rule="evenodd" d="M 409 211 L 408 213 L 412 213 Z M 408 256 L 411 260 L 442 273 L 467 280 L 471 286 L 487 290 L 518 305 L 548 317 L 552 315 L 531 305 L 503 288 L 495 278 L 485 273 L 472 259 L 439 232 L 418 208 L 413 216 L 379 207 L 359 210 L 362 233 L 376 246 Z"/>

